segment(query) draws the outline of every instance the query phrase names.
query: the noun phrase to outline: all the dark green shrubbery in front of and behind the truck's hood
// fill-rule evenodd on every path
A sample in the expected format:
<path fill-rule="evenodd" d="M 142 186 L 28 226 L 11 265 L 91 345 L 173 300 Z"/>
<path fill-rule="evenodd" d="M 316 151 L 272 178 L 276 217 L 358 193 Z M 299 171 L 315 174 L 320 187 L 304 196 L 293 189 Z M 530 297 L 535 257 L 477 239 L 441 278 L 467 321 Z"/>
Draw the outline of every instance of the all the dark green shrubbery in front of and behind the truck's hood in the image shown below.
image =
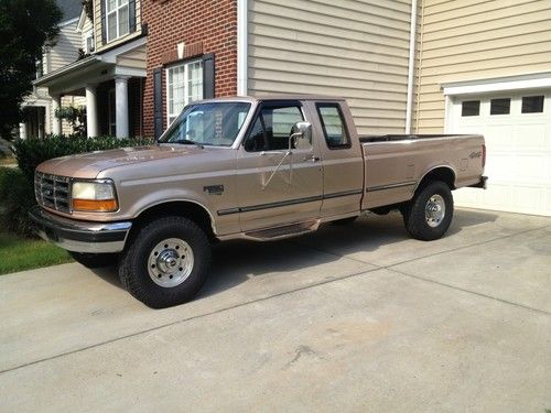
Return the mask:
<path fill-rule="evenodd" d="M 48 135 L 13 141 L 19 170 L 0 167 L 0 231 L 32 236 L 29 210 L 34 199 L 34 170 L 53 157 L 153 143 L 151 139 L 82 135 Z"/>

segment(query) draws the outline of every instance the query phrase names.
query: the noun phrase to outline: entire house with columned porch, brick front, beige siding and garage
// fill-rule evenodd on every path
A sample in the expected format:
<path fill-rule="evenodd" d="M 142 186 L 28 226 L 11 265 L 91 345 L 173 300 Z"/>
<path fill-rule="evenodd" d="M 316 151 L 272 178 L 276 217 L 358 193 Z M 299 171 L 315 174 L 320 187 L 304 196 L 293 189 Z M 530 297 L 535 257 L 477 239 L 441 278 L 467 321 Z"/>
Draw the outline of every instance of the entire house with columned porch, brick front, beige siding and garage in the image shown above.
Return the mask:
<path fill-rule="evenodd" d="M 89 56 L 36 81 L 86 96 L 90 135 L 159 137 L 214 96 L 344 96 L 361 133 L 484 133 L 488 191 L 457 205 L 551 215 L 549 1 L 112 4 L 78 23 Z"/>

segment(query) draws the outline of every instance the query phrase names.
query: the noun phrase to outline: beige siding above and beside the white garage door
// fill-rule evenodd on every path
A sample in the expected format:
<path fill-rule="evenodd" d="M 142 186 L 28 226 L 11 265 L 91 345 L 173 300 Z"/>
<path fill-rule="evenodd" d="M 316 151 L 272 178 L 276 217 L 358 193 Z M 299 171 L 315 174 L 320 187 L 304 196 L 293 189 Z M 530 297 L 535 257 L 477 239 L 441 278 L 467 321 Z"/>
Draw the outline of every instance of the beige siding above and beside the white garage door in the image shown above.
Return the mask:
<path fill-rule="evenodd" d="M 551 70 L 551 1 L 422 3 L 414 129 L 444 129 L 441 85 Z"/>

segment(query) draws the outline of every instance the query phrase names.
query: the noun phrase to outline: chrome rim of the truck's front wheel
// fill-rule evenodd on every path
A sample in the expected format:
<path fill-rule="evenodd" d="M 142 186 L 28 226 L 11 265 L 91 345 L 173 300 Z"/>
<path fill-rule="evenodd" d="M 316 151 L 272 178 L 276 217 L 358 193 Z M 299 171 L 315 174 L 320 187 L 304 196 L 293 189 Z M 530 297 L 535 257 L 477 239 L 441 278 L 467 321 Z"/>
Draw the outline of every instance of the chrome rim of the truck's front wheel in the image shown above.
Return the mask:
<path fill-rule="evenodd" d="M 159 242 L 148 258 L 148 272 L 156 285 L 171 289 L 182 284 L 193 271 L 193 250 L 183 239 Z"/>

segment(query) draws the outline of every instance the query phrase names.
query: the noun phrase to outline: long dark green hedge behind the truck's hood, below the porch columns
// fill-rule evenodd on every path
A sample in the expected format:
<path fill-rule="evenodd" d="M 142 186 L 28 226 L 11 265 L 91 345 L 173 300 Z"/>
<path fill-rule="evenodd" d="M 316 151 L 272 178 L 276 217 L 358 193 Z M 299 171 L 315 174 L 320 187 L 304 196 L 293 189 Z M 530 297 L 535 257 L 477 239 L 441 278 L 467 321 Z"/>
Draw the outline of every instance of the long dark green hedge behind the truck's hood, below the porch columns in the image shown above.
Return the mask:
<path fill-rule="evenodd" d="M 33 182 L 36 166 L 54 157 L 150 143 L 153 143 L 153 140 L 144 138 L 47 135 L 44 139 L 18 139 L 13 141 L 13 152 L 19 169 Z"/>

